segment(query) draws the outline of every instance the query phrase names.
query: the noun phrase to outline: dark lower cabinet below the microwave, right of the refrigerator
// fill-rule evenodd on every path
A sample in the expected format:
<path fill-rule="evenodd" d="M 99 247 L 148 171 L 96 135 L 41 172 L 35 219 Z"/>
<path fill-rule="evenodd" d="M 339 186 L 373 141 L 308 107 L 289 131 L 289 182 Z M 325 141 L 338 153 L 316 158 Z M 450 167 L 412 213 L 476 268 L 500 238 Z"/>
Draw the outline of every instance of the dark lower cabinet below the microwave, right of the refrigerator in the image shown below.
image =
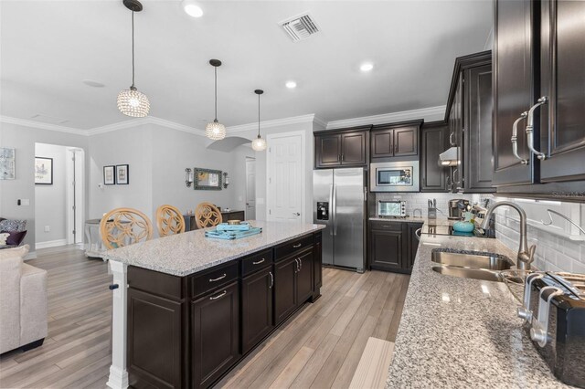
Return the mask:
<path fill-rule="evenodd" d="M 410 273 L 419 247 L 415 232 L 421 226 L 422 223 L 370 220 L 369 268 Z"/>

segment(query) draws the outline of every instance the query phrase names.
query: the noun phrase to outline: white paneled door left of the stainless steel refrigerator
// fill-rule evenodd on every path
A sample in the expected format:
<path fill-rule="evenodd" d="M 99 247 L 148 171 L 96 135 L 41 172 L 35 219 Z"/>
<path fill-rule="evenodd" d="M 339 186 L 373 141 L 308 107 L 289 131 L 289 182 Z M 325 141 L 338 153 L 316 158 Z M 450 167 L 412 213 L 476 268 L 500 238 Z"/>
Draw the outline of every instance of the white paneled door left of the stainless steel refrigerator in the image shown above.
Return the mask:
<path fill-rule="evenodd" d="M 266 156 L 267 219 L 303 222 L 304 132 L 269 135 Z"/>

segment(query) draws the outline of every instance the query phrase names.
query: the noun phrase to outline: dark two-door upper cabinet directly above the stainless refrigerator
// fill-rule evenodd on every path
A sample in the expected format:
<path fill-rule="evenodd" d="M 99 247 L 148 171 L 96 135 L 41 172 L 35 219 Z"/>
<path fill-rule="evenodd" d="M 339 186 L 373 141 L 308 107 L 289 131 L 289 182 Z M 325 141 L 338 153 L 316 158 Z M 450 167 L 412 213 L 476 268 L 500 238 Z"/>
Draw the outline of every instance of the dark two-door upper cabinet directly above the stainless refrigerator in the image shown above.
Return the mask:
<path fill-rule="evenodd" d="M 372 126 L 314 133 L 314 167 L 366 166 L 368 132 Z"/>

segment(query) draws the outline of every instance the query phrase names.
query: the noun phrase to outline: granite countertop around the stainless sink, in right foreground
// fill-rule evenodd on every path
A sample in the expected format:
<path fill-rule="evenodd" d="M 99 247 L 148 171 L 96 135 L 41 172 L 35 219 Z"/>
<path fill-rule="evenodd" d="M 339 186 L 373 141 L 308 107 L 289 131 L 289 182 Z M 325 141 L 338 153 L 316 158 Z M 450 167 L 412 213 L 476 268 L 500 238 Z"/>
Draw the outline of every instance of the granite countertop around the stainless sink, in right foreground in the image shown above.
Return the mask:
<path fill-rule="evenodd" d="M 422 235 L 386 387 L 569 387 L 523 331 L 505 283 L 434 272 L 431 250 L 437 247 L 488 251 L 516 262 L 516 252 L 496 239 Z"/>

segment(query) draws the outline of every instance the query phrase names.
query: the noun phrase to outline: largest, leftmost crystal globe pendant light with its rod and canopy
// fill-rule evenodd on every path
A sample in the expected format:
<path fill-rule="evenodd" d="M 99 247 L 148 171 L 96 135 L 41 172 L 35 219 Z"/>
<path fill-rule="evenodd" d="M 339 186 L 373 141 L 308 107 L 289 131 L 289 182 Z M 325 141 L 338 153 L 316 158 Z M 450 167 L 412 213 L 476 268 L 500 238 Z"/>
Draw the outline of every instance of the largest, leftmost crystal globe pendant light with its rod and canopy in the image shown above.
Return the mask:
<path fill-rule="evenodd" d="M 118 94 L 118 110 L 133 118 L 144 118 L 150 111 L 150 102 L 134 86 L 134 12 L 142 11 L 143 5 L 138 0 L 123 0 L 122 3 L 132 11 L 132 85 Z"/>

